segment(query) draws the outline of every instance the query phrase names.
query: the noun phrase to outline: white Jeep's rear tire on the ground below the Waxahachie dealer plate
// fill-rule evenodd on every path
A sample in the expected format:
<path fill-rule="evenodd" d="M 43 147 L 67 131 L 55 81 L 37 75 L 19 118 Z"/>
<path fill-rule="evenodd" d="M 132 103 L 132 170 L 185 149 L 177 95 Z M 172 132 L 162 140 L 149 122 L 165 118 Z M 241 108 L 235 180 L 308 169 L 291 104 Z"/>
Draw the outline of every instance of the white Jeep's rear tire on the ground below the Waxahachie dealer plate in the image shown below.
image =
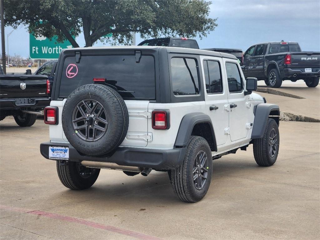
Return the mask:
<path fill-rule="evenodd" d="M 73 190 L 90 188 L 97 180 L 100 169 L 89 168 L 78 162 L 62 163 L 57 161 L 57 172 L 61 183 Z"/>

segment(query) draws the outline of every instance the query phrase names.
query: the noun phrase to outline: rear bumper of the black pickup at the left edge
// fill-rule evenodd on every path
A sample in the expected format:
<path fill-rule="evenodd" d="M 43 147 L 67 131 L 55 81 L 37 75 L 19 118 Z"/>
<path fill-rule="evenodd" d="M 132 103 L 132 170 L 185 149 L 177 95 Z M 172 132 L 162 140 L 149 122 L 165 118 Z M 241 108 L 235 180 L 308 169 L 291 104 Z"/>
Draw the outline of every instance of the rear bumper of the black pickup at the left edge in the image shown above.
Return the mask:
<path fill-rule="evenodd" d="M 27 98 L 26 98 L 27 99 Z M 50 105 L 50 97 L 47 98 L 30 98 L 30 103 L 28 104 L 17 104 L 19 99 L 0 99 L 1 110 L 41 110 L 46 106 Z M 24 99 L 21 98 L 21 102 Z"/>

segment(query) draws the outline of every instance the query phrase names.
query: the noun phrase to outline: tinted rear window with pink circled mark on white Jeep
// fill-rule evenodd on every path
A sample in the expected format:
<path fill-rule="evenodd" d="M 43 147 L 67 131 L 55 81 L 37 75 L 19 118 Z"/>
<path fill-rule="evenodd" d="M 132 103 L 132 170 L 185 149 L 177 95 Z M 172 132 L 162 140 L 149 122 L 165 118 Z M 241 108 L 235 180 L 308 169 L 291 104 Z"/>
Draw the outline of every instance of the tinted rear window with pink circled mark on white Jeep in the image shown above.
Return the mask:
<path fill-rule="evenodd" d="M 76 74 L 75 74 L 76 73 Z M 76 88 L 92 84 L 93 78 L 105 78 L 106 83 L 117 88 L 124 99 L 155 99 L 155 63 L 153 56 L 82 56 L 80 63 L 75 57 L 64 61 L 60 98 L 66 98 Z"/>

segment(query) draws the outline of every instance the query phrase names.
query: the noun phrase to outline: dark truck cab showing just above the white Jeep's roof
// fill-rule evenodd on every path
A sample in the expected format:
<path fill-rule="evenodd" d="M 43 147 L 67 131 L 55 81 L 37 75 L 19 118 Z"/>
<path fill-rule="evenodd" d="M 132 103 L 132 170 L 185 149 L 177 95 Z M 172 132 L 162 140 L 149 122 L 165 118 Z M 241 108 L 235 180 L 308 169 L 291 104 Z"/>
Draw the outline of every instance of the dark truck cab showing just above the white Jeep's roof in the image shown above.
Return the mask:
<path fill-rule="evenodd" d="M 194 48 L 199 49 L 199 45 L 195 39 L 187 37 L 162 37 L 148 39 L 138 46 L 163 46 L 163 47 L 183 47 L 183 48 Z"/>

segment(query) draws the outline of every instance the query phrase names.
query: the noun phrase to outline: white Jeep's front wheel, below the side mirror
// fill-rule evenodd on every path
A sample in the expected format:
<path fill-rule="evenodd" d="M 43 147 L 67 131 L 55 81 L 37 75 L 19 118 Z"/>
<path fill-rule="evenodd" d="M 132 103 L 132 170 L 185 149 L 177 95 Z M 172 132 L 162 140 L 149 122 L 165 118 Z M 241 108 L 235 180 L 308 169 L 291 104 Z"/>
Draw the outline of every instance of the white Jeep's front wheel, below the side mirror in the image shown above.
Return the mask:
<path fill-rule="evenodd" d="M 253 140 L 253 155 L 259 166 L 273 165 L 279 152 L 279 128 L 276 121 L 268 118 L 262 138 Z"/>

